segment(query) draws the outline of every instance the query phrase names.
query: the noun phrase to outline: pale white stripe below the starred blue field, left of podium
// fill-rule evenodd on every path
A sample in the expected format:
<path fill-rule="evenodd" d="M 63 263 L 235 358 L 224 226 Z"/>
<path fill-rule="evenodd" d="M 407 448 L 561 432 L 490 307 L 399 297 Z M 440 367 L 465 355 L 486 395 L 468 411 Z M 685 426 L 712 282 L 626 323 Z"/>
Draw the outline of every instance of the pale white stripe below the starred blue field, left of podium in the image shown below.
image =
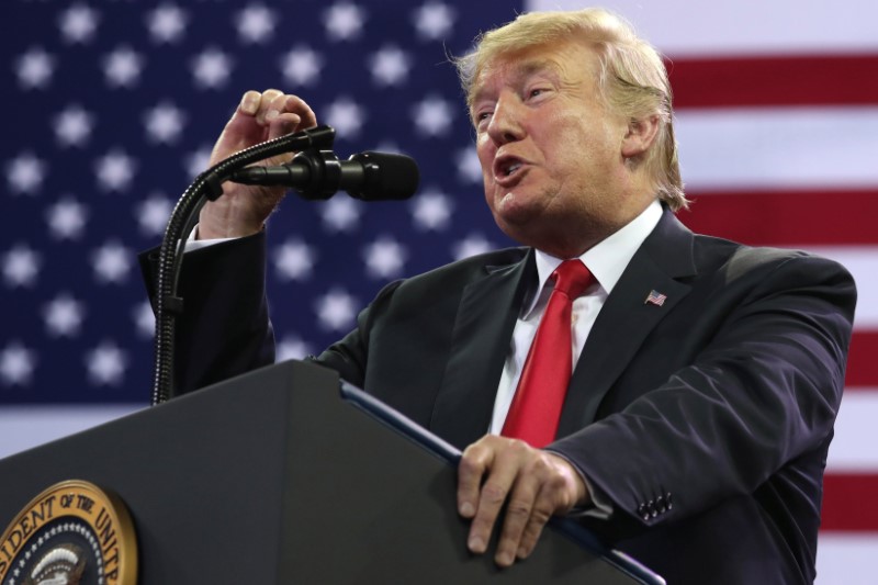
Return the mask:
<path fill-rule="evenodd" d="M 3 406 L 0 409 L 0 459 L 128 415 L 144 406 Z"/>

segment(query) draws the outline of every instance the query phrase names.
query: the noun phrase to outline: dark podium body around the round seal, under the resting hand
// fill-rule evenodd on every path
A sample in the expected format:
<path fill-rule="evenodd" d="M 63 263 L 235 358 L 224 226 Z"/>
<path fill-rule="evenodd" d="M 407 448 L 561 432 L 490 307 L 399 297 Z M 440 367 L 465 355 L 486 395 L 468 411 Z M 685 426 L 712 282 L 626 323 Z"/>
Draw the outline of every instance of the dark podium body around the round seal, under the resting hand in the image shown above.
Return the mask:
<path fill-rule="evenodd" d="M 511 569 L 471 554 L 458 457 L 335 372 L 285 362 L 0 461 L 0 530 L 77 479 L 127 506 L 140 584 L 664 583 L 572 520 Z"/>

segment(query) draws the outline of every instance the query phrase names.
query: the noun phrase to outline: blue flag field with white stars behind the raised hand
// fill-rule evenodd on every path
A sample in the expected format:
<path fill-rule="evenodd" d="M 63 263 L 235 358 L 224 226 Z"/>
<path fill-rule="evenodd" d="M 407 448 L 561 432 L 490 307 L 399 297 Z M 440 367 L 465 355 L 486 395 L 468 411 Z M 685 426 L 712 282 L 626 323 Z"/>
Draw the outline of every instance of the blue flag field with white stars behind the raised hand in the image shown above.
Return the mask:
<path fill-rule="evenodd" d="M 0 72 L 16 104 L 0 145 L 0 404 L 149 400 L 155 320 L 137 254 L 159 244 L 249 89 L 306 99 L 340 158 L 402 153 L 421 171 L 409 201 L 291 194 L 272 215 L 278 359 L 319 353 L 392 280 L 509 245 L 449 63 L 498 24 L 495 8 L 305 4 L 16 5 Z"/>

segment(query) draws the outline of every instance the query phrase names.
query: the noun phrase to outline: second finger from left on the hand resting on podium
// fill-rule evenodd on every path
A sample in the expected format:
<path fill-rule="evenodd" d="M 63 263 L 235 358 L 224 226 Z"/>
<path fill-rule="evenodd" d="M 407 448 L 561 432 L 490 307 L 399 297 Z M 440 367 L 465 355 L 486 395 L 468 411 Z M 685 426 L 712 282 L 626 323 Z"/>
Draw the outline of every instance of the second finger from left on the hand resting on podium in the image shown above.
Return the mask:
<path fill-rule="evenodd" d="M 497 516 L 519 476 L 520 461 L 528 447 L 517 440 L 500 439 L 494 446 L 493 464 L 479 494 L 479 505 L 470 526 L 470 550 L 484 552 Z"/>

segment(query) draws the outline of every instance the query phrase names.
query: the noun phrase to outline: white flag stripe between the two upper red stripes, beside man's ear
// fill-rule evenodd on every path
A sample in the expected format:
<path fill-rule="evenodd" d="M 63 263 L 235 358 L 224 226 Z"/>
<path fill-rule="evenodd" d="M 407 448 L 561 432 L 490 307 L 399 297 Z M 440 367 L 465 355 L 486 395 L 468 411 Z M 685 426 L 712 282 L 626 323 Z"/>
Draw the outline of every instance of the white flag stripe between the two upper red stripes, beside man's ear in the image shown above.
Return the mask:
<path fill-rule="evenodd" d="M 878 108 L 680 110 L 690 191 L 878 185 Z"/>

